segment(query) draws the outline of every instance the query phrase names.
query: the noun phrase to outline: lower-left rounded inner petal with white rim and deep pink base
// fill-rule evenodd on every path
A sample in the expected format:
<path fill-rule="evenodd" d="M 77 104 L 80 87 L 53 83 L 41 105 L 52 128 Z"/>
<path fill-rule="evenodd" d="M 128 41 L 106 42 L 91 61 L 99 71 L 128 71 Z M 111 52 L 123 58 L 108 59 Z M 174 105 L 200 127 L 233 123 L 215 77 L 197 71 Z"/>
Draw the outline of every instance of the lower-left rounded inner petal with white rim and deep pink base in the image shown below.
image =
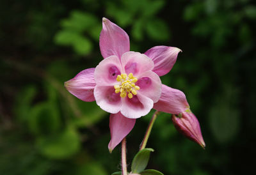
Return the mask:
<path fill-rule="evenodd" d="M 122 107 L 121 97 L 113 86 L 95 86 L 94 96 L 97 105 L 106 112 L 116 114 Z"/>

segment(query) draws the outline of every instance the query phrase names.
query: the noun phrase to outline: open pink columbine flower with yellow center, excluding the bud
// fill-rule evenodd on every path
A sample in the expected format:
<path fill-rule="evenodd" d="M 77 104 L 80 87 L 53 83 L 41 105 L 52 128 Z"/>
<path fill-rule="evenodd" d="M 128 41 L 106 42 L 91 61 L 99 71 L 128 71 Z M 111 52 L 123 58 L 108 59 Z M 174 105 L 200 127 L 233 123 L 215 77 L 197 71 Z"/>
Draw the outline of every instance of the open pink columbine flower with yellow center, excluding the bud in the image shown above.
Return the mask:
<path fill-rule="evenodd" d="M 184 93 L 161 84 L 159 76 L 172 69 L 181 50 L 156 46 L 145 54 L 130 51 L 129 36 L 110 20 L 102 19 L 100 52 L 104 59 L 96 68 L 88 68 L 65 82 L 72 95 L 96 101 L 111 113 L 109 127 L 111 152 L 131 132 L 136 118 L 152 108 L 179 114 L 189 105 Z"/>

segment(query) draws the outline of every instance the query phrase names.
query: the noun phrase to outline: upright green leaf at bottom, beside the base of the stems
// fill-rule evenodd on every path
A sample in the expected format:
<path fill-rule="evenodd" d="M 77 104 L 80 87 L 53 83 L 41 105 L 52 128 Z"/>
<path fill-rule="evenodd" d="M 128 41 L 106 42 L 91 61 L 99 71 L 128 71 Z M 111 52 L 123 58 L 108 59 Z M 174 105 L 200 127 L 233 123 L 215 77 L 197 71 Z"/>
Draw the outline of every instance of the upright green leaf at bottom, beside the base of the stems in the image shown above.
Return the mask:
<path fill-rule="evenodd" d="M 154 151 L 152 148 L 145 148 L 139 151 L 132 160 L 132 172 L 140 173 L 148 164 L 150 152 Z"/>

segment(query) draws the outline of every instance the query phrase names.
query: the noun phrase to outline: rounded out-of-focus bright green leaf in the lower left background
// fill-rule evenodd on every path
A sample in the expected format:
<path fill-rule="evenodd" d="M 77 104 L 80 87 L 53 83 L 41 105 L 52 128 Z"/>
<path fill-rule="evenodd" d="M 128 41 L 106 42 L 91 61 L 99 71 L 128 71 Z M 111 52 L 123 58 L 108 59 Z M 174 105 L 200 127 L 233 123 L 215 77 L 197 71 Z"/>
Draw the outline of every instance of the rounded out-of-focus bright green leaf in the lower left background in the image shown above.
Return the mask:
<path fill-rule="evenodd" d="M 42 155 L 55 159 L 68 158 L 80 149 L 79 135 L 73 128 L 50 137 L 41 137 L 36 145 Z"/>

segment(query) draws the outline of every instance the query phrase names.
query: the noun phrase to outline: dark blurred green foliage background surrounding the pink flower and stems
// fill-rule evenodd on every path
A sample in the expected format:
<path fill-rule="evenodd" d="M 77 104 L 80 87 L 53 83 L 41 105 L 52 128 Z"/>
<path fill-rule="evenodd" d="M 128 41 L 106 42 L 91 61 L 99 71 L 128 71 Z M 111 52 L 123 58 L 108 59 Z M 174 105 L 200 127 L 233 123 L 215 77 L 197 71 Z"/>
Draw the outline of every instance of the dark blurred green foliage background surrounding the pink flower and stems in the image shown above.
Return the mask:
<path fill-rule="evenodd" d="M 157 118 L 148 168 L 164 174 L 252 174 L 255 161 L 256 6 L 253 0 L 1 1 L 0 174 L 105 175 L 109 114 L 64 88 L 102 60 L 102 17 L 127 31 L 131 50 L 183 50 L 164 84 L 186 94 L 206 149 L 185 139 L 170 114 Z M 152 110 L 154 112 L 154 110 Z M 127 138 L 128 163 L 152 113 Z"/>

